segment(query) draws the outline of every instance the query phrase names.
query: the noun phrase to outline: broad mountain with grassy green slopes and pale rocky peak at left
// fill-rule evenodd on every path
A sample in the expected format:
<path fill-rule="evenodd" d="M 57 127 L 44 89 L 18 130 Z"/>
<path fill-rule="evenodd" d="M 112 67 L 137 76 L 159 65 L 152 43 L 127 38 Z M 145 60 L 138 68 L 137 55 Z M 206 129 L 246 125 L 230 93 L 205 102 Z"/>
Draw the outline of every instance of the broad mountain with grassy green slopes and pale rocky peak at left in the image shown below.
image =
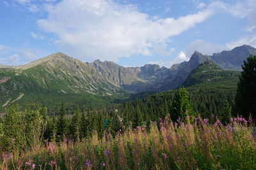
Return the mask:
<path fill-rule="evenodd" d="M 127 92 L 102 79 L 93 67 L 55 53 L 19 68 L 0 69 L 0 110 L 13 103 L 54 106 L 69 104 L 105 106 L 128 97 Z"/>

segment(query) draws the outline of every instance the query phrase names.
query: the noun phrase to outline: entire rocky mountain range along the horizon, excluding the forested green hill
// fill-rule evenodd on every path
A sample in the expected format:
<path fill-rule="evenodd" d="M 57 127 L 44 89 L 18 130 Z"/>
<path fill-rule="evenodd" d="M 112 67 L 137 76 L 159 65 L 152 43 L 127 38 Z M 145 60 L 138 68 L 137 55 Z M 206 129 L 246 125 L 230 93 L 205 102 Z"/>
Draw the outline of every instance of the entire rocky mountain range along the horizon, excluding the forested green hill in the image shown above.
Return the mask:
<path fill-rule="evenodd" d="M 51 105 L 61 99 L 102 106 L 127 99 L 129 93 L 161 92 L 182 84 L 192 85 L 192 81 L 200 80 L 188 80 L 189 74 L 205 61 L 218 71 L 241 71 L 249 54 L 256 55 L 256 48 L 243 45 L 211 56 L 195 51 L 188 62 L 170 68 L 156 64 L 123 67 L 100 60 L 82 62 L 60 52 L 23 66 L 0 64 L 0 110 L 21 101 Z"/>

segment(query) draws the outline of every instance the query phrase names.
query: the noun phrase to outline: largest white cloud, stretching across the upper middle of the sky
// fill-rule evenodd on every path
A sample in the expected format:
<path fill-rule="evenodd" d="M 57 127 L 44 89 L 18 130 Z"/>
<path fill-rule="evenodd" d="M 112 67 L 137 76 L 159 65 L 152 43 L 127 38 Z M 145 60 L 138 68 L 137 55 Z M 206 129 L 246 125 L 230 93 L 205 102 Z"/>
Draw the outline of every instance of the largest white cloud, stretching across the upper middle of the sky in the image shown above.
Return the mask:
<path fill-rule="evenodd" d="M 63 0 L 45 8 L 48 18 L 38 26 L 58 36 L 63 52 L 82 60 L 118 60 L 133 54 L 152 55 L 172 36 L 213 15 L 201 10 L 177 19 L 150 17 L 136 6 L 106 0 Z"/>

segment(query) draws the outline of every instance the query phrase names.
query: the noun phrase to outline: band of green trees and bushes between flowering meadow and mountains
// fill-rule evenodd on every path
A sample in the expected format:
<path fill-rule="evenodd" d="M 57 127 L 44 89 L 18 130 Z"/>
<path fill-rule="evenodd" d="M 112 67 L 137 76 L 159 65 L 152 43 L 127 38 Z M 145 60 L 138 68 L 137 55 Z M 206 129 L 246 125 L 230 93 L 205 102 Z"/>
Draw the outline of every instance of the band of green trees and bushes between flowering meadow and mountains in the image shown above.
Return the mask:
<path fill-rule="evenodd" d="M 77 141 L 89 138 L 93 131 L 97 131 L 99 137 L 106 132 L 115 136 L 116 132 L 124 132 L 127 128 L 148 127 L 152 121 L 161 121 L 167 114 L 174 122 L 188 115 L 197 117 L 200 113 L 201 117 L 209 118 L 214 113 L 214 120 L 218 118 L 225 123 L 231 117 L 230 111 L 230 101 L 225 94 L 198 89 L 189 95 L 183 87 L 97 110 L 67 108 L 62 103 L 60 109 L 50 115 L 47 108 L 38 104 L 28 104 L 24 110 L 13 105 L 0 120 L 0 149 L 24 150 L 41 145 L 43 141 Z"/>

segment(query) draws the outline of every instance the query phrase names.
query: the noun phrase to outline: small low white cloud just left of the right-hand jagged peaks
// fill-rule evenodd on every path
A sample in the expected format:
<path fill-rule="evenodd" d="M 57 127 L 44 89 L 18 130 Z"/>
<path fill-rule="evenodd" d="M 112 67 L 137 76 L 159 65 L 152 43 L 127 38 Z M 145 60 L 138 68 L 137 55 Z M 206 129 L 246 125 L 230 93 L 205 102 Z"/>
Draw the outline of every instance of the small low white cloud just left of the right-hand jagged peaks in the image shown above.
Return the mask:
<path fill-rule="evenodd" d="M 202 39 L 197 39 L 186 47 L 186 55 L 191 57 L 195 50 L 202 53 L 203 55 L 212 55 L 212 53 L 218 53 L 223 50 L 230 50 L 230 48 L 225 45 L 216 45 L 205 42 Z"/>

